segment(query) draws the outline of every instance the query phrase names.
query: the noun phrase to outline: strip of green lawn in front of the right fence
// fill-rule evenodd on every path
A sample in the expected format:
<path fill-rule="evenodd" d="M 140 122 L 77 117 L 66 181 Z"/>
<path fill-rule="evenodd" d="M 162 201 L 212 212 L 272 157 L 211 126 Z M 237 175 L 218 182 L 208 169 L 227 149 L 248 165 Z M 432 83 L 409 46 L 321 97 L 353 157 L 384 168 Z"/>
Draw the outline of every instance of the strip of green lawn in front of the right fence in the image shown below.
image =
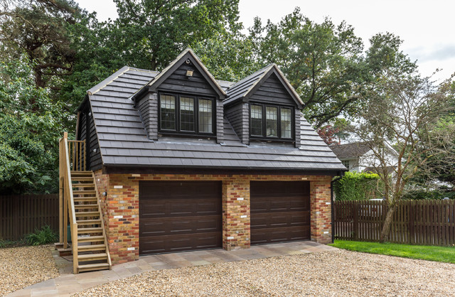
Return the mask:
<path fill-rule="evenodd" d="M 385 254 L 389 256 L 422 259 L 455 264 L 455 247 L 434 247 L 429 245 L 392 244 L 378 242 L 351 242 L 335 240 L 328 244 L 338 249 L 348 249 L 354 252 L 370 254 Z"/>

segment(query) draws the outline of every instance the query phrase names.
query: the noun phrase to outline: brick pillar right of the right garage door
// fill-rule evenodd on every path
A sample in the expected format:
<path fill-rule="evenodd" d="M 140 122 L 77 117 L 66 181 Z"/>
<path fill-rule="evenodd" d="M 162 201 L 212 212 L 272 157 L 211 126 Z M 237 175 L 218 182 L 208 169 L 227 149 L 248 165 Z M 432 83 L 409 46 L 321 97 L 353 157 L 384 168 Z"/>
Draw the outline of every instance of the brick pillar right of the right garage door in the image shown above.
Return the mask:
<path fill-rule="evenodd" d="M 332 242 L 331 177 L 311 181 L 311 240 L 321 244 Z"/>

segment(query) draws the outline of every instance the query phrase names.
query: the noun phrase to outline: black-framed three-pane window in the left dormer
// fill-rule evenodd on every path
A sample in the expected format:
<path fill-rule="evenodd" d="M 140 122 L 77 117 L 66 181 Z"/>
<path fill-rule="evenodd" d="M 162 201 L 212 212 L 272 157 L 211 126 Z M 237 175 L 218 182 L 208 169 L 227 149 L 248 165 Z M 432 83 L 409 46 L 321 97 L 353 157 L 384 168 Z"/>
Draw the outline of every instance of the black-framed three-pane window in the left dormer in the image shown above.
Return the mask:
<path fill-rule="evenodd" d="M 181 134 L 213 134 L 214 100 L 206 97 L 161 93 L 160 131 Z"/>

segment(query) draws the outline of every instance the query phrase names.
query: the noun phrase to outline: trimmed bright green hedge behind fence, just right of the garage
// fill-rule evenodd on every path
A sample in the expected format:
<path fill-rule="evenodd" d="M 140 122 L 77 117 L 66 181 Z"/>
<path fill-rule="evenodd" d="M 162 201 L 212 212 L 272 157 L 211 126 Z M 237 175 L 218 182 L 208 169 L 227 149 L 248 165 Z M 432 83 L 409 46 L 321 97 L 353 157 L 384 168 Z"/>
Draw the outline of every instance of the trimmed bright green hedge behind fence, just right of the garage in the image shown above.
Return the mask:
<path fill-rule="evenodd" d="M 377 189 L 378 181 L 379 175 L 375 173 L 346 172 L 341 179 L 333 183 L 336 200 L 370 200 L 381 198 Z"/>

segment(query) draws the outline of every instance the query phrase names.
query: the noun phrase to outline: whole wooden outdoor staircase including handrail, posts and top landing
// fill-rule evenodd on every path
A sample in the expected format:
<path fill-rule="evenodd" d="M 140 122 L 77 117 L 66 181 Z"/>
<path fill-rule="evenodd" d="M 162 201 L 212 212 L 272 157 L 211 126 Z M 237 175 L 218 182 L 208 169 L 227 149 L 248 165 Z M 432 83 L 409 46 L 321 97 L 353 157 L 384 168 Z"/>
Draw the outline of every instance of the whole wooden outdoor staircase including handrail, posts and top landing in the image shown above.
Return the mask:
<path fill-rule="evenodd" d="M 70 224 L 74 274 L 112 268 L 95 174 L 86 170 L 86 153 L 85 140 L 70 141 L 65 132 L 60 139 L 59 246 L 69 252 Z"/>

